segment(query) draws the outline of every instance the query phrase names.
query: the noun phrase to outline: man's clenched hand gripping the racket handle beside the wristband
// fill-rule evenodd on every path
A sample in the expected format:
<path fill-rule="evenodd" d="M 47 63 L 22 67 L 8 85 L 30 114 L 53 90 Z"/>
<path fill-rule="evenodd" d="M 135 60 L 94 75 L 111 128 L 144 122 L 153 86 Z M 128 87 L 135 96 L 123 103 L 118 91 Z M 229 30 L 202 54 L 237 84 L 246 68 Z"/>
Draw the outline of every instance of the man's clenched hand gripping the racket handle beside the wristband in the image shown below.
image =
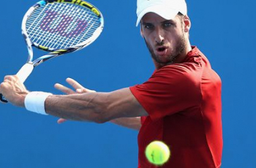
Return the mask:
<path fill-rule="evenodd" d="M 28 94 L 28 90 L 24 86 L 17 75 L 5 76 L 3 83 L 0 85 L 0 93 L 5 99 L 15 106 L 24 107 L 24 99 Z"/>

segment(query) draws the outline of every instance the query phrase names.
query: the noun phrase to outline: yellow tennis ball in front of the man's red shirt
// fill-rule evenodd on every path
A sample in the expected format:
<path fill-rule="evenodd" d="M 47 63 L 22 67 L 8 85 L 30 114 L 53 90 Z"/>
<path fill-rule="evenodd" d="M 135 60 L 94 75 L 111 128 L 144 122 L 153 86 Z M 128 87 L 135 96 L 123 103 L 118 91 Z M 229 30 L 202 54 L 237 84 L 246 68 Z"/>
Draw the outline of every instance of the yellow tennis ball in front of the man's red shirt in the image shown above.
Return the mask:
<path fill-rule="evenodd" d="M 163 165 L 170 157 L 170 149 L 164 142 L 155 140 L 148 144 L 145 154 L 150 163 Z"/>

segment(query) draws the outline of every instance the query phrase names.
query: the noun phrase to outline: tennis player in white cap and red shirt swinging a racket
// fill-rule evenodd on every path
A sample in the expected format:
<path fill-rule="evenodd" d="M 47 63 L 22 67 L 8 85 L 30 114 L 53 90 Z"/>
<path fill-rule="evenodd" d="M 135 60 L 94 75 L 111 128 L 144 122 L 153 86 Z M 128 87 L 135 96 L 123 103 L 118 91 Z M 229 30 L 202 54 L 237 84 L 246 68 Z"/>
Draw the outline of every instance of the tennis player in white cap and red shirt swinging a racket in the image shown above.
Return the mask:
<path fill-rule="evenodd" d="M 172 156 L 166 168 L 220 167 L 222 159 L 221 80 L 209 60 L 189 42 L 191 21 L 185 0 L 137 0 L 137 26 L 156 71 L 141 85 L 99 93 L 73 79 L 78 93 L 28 91 L 18 77 L 6 76 L 0 91 L 15 106 L 66 120 L 115 122 L 139 129 L 139 165 L 154 167 L 146 146 L 162 140 Z"/>

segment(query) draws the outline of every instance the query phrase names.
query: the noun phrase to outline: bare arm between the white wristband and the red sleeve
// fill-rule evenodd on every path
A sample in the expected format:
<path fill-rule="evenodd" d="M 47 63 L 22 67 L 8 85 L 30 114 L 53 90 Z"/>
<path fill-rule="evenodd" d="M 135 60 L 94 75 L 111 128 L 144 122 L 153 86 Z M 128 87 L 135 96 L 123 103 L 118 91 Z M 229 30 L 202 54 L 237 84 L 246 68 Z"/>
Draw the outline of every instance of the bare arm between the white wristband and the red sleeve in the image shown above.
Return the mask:
<path fill-rule="evenodd" d="M 129 88 L 109 93 L 50 95 L 46 98 L 45 110 L 60 118 L 97 123 L 147 115 Z"/>

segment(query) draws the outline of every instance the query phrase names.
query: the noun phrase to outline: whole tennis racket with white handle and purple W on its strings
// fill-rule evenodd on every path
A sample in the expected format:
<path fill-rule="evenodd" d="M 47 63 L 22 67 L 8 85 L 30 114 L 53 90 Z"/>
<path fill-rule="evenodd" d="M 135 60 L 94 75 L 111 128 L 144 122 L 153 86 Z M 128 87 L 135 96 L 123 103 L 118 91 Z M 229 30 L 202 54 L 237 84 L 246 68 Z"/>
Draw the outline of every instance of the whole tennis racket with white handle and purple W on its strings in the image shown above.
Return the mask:
<path fill-rule="evenodd" d="M 103 26 L 100 11 L 86 1 L 39 1 L 28 9 L 22 20 L 28 60 L 18 71 L 18 78 L 24 83 L 34 67 L 42 62 L 88 46 L 100 36 Z M 32 46 L 49 53 L 33 60 Z M 1 93 L 0 100 L 8 102 Z"/>

